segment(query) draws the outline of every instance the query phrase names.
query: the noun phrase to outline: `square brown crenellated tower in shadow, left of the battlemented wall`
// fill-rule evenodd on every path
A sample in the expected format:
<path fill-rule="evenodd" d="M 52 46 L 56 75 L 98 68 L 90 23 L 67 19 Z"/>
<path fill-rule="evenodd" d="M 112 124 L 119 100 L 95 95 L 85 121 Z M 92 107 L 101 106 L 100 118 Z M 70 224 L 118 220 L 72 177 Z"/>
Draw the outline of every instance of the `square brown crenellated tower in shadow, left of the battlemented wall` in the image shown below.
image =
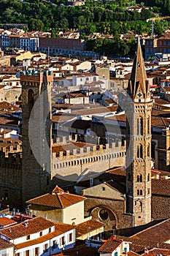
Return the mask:
<path fill-rule="evenodd" d="M 22 84 L 24 205 L 26 200 L 50 190 L 50 91 L 53 85 L 53 74 L 49 70 L 26 70 L 20 74 L 20 81 Z M 42 127 L 45 129 L 43 130 Z"/>

